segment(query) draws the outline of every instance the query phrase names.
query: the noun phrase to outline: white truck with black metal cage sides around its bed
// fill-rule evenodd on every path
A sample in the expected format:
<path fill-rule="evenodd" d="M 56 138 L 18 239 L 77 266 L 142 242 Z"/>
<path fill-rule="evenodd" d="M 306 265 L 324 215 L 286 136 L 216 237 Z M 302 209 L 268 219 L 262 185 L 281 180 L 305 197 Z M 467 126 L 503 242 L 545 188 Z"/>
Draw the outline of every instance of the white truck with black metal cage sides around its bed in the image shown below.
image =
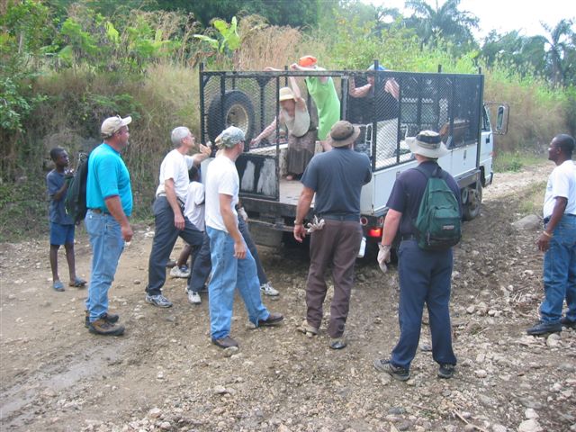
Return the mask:
<path fill-rule="evenodd" d="M 341 119 L 357 124 L 361 134 L 354 149 L 371 161 L 372 180 L 361 193 L 361 218 L 367 245 L 382 237 L 386 202 L 392 185 L 404 170 L 417 165 L 405 143 L 420 130 L 436 130 L 450 150 L 438 164 L 455 177 L 460 186 L 463 219 L 473 220 L 481 211 L 482 188 L 493 180 L 494 135 L 506 133 L 509 107 L 483 101 L 484 76 L 478 74 L 415 73 L 373 71 L 208 71 L 200 70 L 202 142 L 214 141 L 221 130 L 234 125 L 244 130 L 245 151 L 236 162 L 240 178 L 240 199 L 247 211 L 250 231 L 259 245 L 279 247 L 292 236 L 302 184 L 288 181 L 285 174 L 285 133 L 276 126 L 273 137 L 256 147 L 250 140 L 274 121 L 279 112 L 278 93 L 288 77 L 300 80 L 302 97 L 307 97 L 312 118 L 316 108 L 306 92 L 302 78 L 330 76 L 338 90 Z M 374 76 L 374 94 L 386 82 L 397 85 L 397 99 L 386 103 L 362 101 L 352 97 L 351 85 L 362 85 Z M 353 81 L 354 80 L 354 81 Z M 386 115 L 386 112 L 389 115 Z M 392 114 L 390 114 L 392 112 Z M 492 127 L 491 113 L 496 113 Z M 377 133 L 379 121 L 386 119 L 395 133 L 392 139 Z M 317 145 L 317 151 L 322 148 Z M 308 215 L 313 216 L 313 204 Z M 373 246 L 373 247 L 374 247 Z"/>

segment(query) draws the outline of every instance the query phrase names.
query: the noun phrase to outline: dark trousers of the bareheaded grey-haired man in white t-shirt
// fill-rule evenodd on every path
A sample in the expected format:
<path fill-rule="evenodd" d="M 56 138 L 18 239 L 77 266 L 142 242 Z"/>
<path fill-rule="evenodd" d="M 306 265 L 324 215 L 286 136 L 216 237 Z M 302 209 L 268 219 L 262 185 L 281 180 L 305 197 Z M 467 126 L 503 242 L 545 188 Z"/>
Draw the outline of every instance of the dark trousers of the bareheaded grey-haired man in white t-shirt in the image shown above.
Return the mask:
<path fill-rule="evenodd" d="M 199 231 L 193 223 L 184 217 L 184 229 L 176 229 L 174 225 L 174 211 L 166 196 L 157 197 L 154 202 L 155 231 L 152 243 L 152 251 L 148 260 L 148 295 L 162 293 L 162 286 L 166 282 L 166 263 L 174 248 L 176 239 L 183 238 L 193 249 L 202 245 L 202 231 Z"/>

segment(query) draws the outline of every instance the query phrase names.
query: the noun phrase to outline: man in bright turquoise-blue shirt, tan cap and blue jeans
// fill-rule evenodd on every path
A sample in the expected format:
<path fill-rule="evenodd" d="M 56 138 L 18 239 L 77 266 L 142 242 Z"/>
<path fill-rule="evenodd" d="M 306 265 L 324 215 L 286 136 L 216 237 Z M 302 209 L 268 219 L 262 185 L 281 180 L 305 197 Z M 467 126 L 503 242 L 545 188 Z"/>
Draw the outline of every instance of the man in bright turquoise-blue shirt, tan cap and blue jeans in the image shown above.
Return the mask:
<path fill-rule="evenodd" d="M 109 117 L 100 128 L 103 143 L 88 159 L 85 227 L 92 247 L 92 272 L 86 299 L 86 324 L 91 333 L 119 336 L 124 327 L 108 313 L 108 290 L 114 280 L 124 242 L 132 239 L 130 173 L 121 158 L 128 145 L 131 117 Z"/>

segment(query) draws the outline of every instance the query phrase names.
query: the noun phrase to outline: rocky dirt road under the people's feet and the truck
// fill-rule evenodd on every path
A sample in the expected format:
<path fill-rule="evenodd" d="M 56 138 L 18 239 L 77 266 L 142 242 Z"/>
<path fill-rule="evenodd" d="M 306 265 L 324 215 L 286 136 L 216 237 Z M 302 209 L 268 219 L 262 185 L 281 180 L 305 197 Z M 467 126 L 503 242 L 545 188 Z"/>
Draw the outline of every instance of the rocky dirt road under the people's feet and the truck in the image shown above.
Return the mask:
<path fill-rule="evenodd" d="M 240 350 L 225 353 L 210 343 L 207 302 L 188 304 L 184 280 L 166 283 L 173 308 L 144 302 L 148 227 L 137 227 L 110 293 L 127 328 L 120 338 L 84 328 L 85 290 L 49 288 L 45 238 L 2 244 L 2 430 L 576 431 L 576 331 L 526 336 L 543 295 L 542 256 L 536 229 L 510 225 L 524 216 L 518 209 L 534 187 L 544 191 L 552 168 L 497 175 L 481 216 L 464 224 L 452 298 L 459 363 L 447 381 L 437 379 L 426 325 L 410 381 L 372 366 L 399 334 L 393 267 L 383 275 L 373 262 L 359 263 L 349 346 L 335 352 L 324 331 L 312 339 L 295 331 L 305 254 L 262 250 L 281 292 L 266 304 L 284 313 L 284 326 L 249 329 L 238 301 L 232 334 Z M 64 262 L 62 254 L 61 275 Z M 83 230 L 76 262 L 88 278 Z"/>

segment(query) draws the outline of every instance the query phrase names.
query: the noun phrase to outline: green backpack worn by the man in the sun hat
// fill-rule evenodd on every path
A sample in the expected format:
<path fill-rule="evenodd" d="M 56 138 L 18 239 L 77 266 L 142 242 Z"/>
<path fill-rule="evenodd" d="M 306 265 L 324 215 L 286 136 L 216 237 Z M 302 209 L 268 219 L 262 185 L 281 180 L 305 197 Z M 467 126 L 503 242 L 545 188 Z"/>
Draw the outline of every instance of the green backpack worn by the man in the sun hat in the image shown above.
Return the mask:
<path fill-rule="evenodd" d="M 440 166 L 432 175 L 420 166 L 416 169 L 428 178 L 418 217 L 412 222 L 418 246 L 424 250 L 446 250 L 462 238 L 460 204 Z"/>

